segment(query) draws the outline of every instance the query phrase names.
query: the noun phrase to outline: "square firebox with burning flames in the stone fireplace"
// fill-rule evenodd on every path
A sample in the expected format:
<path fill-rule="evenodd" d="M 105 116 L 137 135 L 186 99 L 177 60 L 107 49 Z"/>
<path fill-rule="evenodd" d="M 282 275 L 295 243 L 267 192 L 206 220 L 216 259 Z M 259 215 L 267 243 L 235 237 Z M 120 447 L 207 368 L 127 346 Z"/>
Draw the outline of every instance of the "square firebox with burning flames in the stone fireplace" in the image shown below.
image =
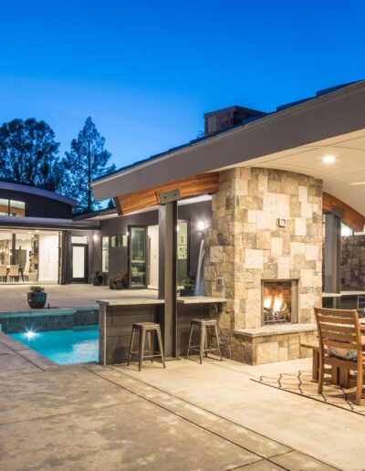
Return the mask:
<path fill-rule="evenodd" d="M 297 279 L 263 279 L 262 324 L 297 322 Z"/>

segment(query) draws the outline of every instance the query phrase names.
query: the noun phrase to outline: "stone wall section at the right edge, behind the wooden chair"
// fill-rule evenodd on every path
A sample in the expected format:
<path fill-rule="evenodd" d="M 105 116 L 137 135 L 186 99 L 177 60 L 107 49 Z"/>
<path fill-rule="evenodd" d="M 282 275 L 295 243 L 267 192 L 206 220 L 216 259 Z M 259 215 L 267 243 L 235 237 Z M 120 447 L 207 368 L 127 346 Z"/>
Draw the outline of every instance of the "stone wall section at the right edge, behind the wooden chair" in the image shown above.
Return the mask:
<path fill-rule="evenodd" d="M 365 235 L 341 237 L 341 290 L 365 289 Z"/>

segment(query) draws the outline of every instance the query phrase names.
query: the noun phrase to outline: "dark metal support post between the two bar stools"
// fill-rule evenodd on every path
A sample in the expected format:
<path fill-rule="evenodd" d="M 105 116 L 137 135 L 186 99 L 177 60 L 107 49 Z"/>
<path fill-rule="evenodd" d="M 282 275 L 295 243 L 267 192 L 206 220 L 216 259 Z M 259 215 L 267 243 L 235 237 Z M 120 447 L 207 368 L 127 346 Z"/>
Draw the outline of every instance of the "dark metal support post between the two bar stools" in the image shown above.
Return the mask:
<path fill-rule="evenodd" d="M 165 204 L 164 245 L 164 349 L 166 357 L 177 356 L 176 256 L 177 201 Z"/>

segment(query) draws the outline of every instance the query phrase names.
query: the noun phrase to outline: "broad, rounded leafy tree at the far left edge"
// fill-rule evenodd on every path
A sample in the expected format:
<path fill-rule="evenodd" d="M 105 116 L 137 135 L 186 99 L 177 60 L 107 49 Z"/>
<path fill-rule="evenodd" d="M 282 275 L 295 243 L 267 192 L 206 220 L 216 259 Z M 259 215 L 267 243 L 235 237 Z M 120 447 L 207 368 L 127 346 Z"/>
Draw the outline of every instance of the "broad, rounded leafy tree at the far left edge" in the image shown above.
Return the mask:
<path fill-rule="evenodd" d="M 5 122 L 0 127 L 0 177 L 57 190 L 62 181 L 58 147 L 43 120 Z"/>

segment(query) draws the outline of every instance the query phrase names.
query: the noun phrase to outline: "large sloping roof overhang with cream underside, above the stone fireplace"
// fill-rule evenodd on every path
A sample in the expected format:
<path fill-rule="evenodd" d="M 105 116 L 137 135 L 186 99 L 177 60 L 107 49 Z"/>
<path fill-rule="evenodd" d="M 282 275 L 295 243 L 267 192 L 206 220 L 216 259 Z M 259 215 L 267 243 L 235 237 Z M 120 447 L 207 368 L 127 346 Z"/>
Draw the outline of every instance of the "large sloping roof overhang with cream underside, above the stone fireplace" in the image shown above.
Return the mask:
<path fill-rule="evenodd" d="M 336 158 L 331 165 L 322 162 L 328 152 Z M 100 200 L 237 166 L 312 175 L 323 180 L 328 194 L 365 215 L 365 81 L 141 162 L 91 187 Z"/>

